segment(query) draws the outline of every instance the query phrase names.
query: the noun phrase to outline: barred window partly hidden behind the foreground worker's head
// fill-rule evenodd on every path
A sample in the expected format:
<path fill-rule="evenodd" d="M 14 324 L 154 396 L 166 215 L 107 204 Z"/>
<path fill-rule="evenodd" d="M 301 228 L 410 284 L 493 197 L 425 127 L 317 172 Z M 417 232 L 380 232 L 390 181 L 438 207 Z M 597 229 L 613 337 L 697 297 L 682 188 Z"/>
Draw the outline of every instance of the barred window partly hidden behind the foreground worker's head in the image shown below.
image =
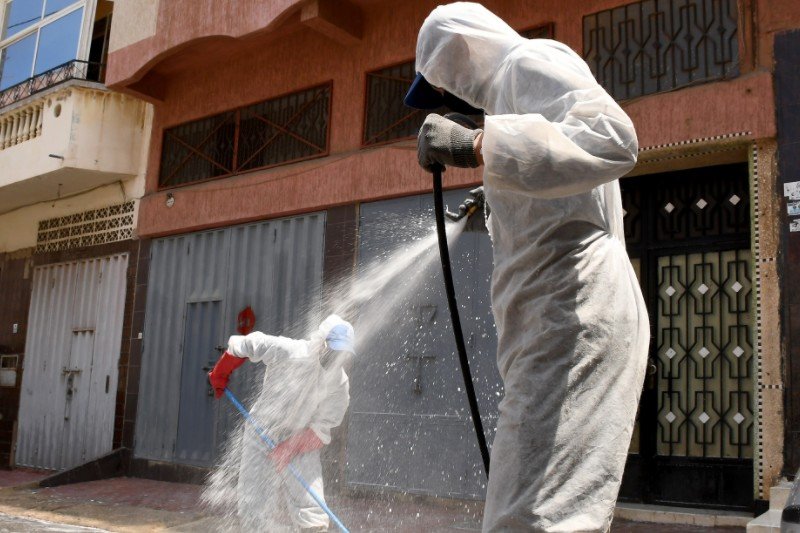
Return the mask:
<path fill-rule="evenodd" d="M 527 39 L 551 38 L 553 25 L 529 28 L 521 31 L 520 35 Z M 420 110 L 403 104 L 403 98 L 415 76 L 413 60 L 367 73 L 363 146 L 411 139 L 417 135 L 428 113 L 448 112 L 446 108 Z M 480 117 L 474 118 L 481 122 Z"/>

